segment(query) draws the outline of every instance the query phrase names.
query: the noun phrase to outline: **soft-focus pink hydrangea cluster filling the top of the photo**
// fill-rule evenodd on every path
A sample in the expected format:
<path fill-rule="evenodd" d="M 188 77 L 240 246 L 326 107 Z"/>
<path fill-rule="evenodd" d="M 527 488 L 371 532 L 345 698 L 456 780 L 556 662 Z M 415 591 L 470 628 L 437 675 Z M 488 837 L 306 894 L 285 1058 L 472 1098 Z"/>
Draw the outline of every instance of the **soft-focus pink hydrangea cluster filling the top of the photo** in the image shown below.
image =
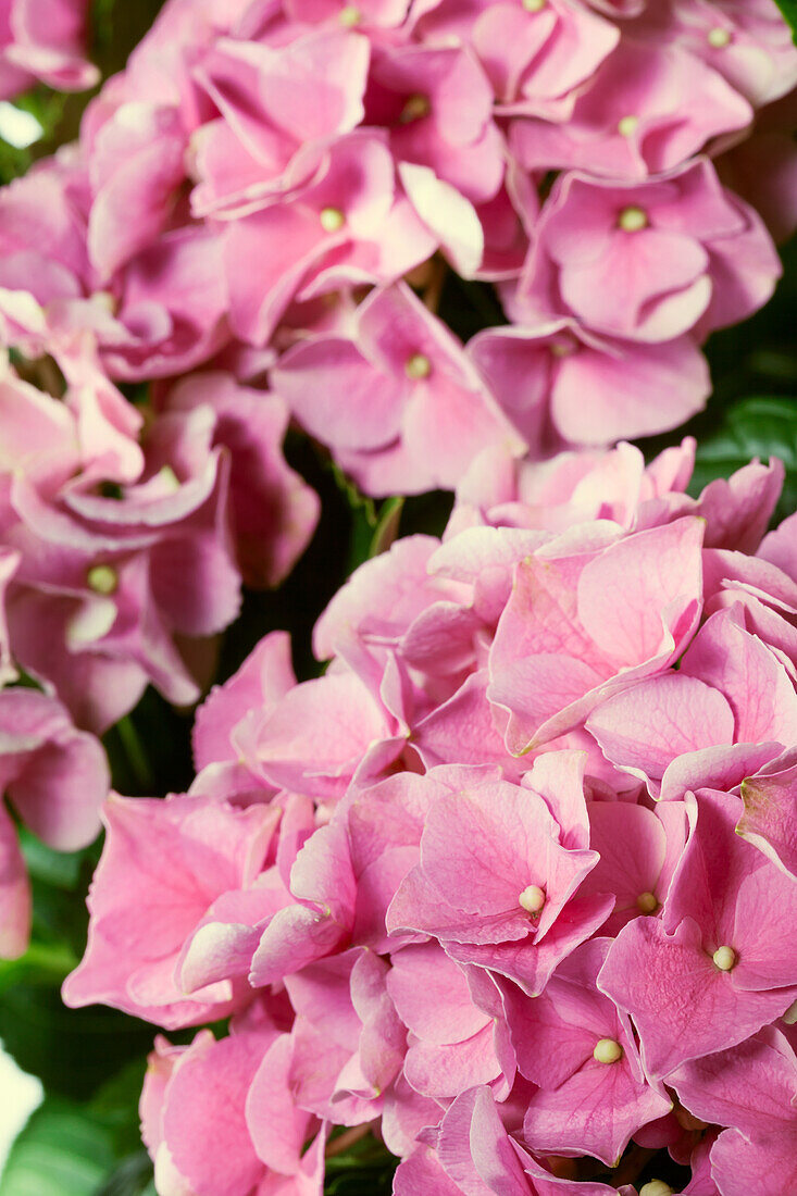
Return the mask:
<path fill-rule="evenodd" d="M 774 0 L 168 0 L 0 193 L 5 337 L 268 377 L 379 495 L 668 429 L 779 275 L 796 84 Z M 446 263 L 509 328 L 450 334 Z"/>

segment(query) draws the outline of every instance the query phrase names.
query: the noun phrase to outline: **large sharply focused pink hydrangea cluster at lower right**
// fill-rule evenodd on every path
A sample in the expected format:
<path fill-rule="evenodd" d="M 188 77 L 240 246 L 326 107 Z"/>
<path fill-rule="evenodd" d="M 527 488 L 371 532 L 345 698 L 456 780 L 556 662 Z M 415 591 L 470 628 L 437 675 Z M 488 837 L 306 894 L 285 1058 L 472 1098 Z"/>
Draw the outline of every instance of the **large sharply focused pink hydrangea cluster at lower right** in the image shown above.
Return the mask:
<path fill-rule="evenodd" d="M 157 1041 L 162 1196 L 320 1196 L 333 1127 L 396 1196 L 633 1196 L 664 1149 L 690 1196 L 793 1184 L 797 517 L 778 463 L 689 499 L 693 450 L 487 448 L 323 676 L 267 635 L 190 793 L 105 804 L 65 999 L 231 1019 Z"/>

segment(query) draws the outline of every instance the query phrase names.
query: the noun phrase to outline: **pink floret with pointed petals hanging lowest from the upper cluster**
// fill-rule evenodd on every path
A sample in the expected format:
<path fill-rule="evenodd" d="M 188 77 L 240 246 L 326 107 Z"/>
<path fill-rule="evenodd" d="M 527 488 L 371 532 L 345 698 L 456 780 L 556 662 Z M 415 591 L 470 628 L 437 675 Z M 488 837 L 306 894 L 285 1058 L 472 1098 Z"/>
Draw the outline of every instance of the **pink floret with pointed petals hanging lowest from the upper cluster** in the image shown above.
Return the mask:
<path fill-rule="evenodd" d="M 403 285 L 371 292 L 351 338 L 288 349 L 272 382 L 369 494 L 450 488 L 486 444 L 522 445 L 461 346 Z"/>

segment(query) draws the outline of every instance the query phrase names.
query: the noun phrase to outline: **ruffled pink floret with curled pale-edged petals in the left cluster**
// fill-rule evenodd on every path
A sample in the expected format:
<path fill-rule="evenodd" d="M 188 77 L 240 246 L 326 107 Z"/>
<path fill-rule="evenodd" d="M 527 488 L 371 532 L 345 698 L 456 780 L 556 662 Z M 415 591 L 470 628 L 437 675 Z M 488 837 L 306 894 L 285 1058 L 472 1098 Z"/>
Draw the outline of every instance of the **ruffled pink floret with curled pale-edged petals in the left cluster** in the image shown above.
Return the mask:
<path fill-rule="evenodd" d="M 48 501 L 24 475 L 12 484 L 17 521 L 6 538 L 22 557 L 7 598 L 14 654 L 83 725 L 109 726 L 148 679 L 176 703 L 195 701 L 175 636 L 213 635 L 238 612 L 227 470 L 208 431 L 202 410 L 164 416 L 142 477 L 121 500 L 67 486 Z"/>

